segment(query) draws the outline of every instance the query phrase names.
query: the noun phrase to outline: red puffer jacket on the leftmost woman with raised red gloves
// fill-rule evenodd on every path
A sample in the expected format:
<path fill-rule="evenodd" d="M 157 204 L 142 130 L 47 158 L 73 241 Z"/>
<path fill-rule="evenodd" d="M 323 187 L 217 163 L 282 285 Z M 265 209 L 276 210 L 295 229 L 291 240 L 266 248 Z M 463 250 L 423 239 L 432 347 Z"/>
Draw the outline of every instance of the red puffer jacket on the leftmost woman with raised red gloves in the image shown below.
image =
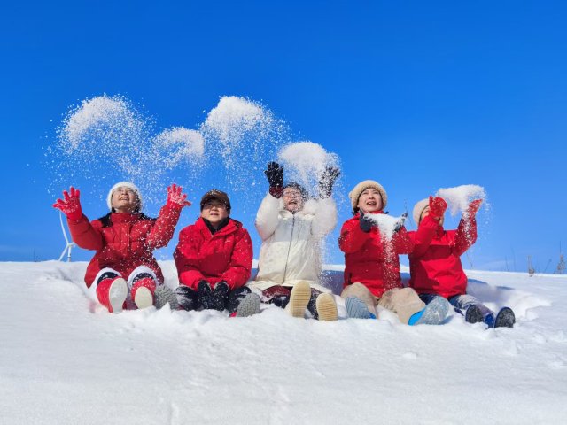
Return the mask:
<path fill-rule="evenodd" d="M 181 207 L 165 205 L 158 219 L 142 213 L 108 213 L 97 220 L 84 215 L 78 221 L 67 220 L 71 236 L 77 245 L 97 253 L 90 260 L 85 282 L 90 287 L 97 273 L 111 267 L 124 279 L 138 266 L 147 266 L 155 272 L 159 282 L 163 274 L 151 251 L 162 248 L 174 236 Z"/>

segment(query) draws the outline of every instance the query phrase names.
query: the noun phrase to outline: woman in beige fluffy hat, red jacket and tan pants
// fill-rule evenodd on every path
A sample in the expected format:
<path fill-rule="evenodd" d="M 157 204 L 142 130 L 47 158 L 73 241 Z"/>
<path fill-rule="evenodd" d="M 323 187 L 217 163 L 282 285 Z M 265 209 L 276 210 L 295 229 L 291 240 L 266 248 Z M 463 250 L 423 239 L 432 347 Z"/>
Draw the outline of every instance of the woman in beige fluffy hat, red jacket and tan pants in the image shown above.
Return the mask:
<path fill-rule="evenodd" d="M 401 224 L 391 237 L 384 235 L 373 220 L 385 214 L 388 198 L 382 185 L 371 180 L 360 182 L 349 197 L 354 217 L 343 224 L 338 239 L 341 251 L 345 252 L 341 297 L 346 298 L 349 316 L 375 318 L 376 307 L 381 305 L 396 313 L 402 323 L 439 324 L 447 315 L 447 301 L 440 298 L 425 305 L 415 290 L 401 285 L 398 255 L 412 251 L 413 239 Z M 416 237 L 428 237 L 423 235 L 428 231 L 432 234 L 435 223 L 430 220 Z"/>

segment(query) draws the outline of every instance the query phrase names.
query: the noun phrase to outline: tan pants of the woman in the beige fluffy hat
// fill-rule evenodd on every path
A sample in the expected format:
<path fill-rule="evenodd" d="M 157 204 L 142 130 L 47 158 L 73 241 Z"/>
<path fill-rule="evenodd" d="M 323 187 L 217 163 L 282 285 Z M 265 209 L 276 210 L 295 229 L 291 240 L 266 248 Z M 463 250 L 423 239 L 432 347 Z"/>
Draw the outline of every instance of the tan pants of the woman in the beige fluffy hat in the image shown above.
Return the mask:
<path fill-rule="evenodd" d="M 370 313 L 377 316 L 377 305 L 396 313 L 402 323 L 408 323 L 409 318 L 425 308 L 425 303 L 412 288 L 394 288 L 386 290 L 381 298 L 375 297 L 370 290 L 360 282 L 348 285 L 340 294 L 342 298 L 357 297 L 369 308 Z"/>

